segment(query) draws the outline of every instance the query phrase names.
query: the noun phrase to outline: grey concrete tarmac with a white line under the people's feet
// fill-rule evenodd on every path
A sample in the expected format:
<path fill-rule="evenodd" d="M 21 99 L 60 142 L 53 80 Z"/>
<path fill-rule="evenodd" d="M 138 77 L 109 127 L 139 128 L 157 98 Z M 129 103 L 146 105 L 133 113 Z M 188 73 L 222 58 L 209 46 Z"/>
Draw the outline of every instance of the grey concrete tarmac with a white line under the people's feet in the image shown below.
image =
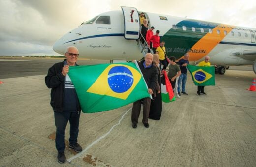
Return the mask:
<path fill-rule="evenodd" d="M 63 59 L 0 58 L 0 167 L 256 167 L 256 75 L 252 66 L 216 74 L 216 85 L 197 96 L 188 75 L 186 91 L 163 103 L 159 121 L 131 126 L 132 104 L 81 114 L 83 152 L 56 159 L 48 68 Z M 79 60 L 82 64 L 108 63 Z M 239 69 L 239 70 L 238 70 Z M 66 143 L 69 137 L 66 128 Z"/>

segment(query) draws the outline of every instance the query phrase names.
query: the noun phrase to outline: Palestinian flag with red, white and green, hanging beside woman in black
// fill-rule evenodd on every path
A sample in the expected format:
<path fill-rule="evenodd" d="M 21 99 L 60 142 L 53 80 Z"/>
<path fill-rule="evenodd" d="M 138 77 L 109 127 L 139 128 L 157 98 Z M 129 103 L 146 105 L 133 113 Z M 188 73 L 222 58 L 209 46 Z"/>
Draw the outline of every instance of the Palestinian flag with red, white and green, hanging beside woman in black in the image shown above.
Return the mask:
<path fill-rule="evenodd" d="M 166 71 L 162 71 L 161 77 L 161 92 L 162 92 L 162 101 L 165 103 L 169 103 L 175 100 L 175 96 L 173 93 L 173 89 L 171 83 L 168 79 Z"/>

